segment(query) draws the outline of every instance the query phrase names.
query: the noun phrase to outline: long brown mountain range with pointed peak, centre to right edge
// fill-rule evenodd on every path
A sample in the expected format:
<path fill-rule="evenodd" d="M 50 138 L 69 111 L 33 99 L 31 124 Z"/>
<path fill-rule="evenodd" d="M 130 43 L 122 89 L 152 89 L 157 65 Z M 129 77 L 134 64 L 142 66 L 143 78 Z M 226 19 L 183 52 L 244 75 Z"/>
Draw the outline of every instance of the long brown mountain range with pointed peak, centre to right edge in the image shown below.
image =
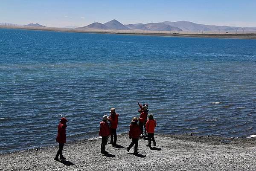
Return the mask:
<path fill-rule="evenodd" d="M 95 29 L 95 30 L 149 30 L 149 31 L 184 31 L 184 32 L 243 32 L 256 31 L 256 27 L 235 27 L 235 26 L 215 26 L 192 23 L 189 21 L 164 21 L 160 23 L 136 23 L 123 25 L 117 20 L 111 20 L 107 23 L 92 23 L 88 26 L 78 27 L 76 29 Z"/>

